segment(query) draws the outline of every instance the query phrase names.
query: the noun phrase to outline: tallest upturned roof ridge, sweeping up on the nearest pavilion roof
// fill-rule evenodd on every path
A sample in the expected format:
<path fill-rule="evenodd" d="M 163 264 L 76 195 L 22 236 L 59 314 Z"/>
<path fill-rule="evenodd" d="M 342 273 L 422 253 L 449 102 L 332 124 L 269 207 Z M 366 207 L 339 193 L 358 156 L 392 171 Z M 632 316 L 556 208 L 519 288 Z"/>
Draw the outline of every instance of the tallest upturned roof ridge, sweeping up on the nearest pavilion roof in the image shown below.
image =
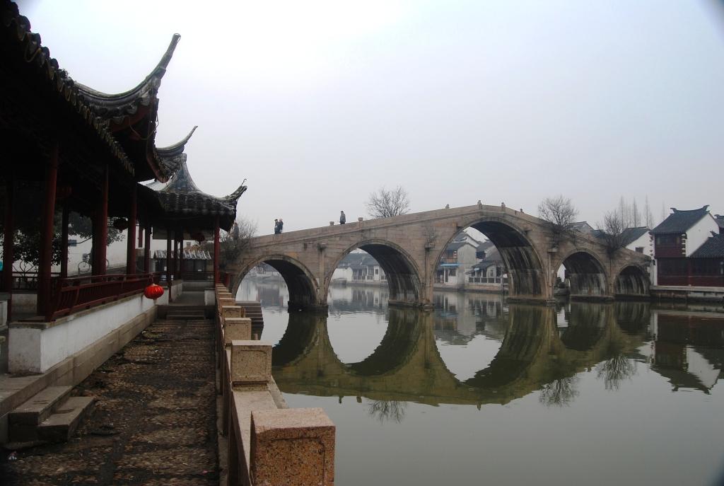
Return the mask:
<path fill-rule="evenodd" d="M 153 68 L 143 81 L 128 91 L 114 94 L 104 93 L 90 88 L 83 83 L 76 82 L 75 85 L 79 93 L 85 97 L 86 101 L 98 109 L 98 114 L 101 116 L 117 117 L 121 112 L 133 114 L 137 107 L 136 100 L 140 100 L 138 102 L 145 106 L 151 103 L 151 99 L 153 99 L 151 94 L 155 93 L 159 85 L 161 85 L 161 78 L 166 74 L 166 69 L 180 38 L 180 34 L 174 34 L 172 36 L 171 43 L 169 43 L 166 52 L 161 56 L 161 60 L 156 64 L 156 67 Z"/>

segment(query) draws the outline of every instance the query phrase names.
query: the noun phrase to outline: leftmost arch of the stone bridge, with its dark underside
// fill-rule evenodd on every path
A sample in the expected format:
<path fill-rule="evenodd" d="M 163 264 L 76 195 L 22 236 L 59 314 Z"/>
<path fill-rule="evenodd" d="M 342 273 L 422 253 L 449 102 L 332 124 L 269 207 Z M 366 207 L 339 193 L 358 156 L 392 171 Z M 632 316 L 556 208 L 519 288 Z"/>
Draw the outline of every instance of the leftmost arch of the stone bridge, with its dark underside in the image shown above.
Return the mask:
<path fill-rule="evenodd" d="M 312 272 L 300 262 L 291 256 L 285 254 L 271 254 L 260 256 L 256 259 L 246 262 L 245 266 L 237 272 L 237 277 L 232 285 L 232 296 L 236 296 L 239 285 L 244 276 L 256 267 L 258 264 L 268 264 L 282 275 L 287 288 L 289 289 L 290 309 L 306 309 L 317 306 L 319 303 L 319 285 Z"/>

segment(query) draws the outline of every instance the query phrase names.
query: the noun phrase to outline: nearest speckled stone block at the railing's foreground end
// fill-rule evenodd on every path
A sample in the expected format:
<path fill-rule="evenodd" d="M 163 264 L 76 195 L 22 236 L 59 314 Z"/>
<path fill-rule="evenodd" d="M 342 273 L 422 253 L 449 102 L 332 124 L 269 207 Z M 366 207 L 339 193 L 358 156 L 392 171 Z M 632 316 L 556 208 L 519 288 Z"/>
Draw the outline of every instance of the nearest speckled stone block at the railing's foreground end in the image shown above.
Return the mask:
<path fill-rule="evenodd" d="M 334 485 L 334 433 L 322 409 L 252 411 L 252 483 Z"/>

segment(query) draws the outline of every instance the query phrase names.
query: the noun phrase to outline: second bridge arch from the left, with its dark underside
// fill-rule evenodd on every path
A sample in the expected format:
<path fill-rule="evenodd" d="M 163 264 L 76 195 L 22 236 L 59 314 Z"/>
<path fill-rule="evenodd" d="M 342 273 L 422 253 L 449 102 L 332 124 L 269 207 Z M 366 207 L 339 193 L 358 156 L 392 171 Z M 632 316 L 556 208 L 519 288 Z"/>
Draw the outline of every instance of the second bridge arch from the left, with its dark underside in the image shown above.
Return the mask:
<path fill-rule="evenodd" d="M 324 277 L 324 295 L 329 292 L 334 269 L 350 252 L 361 249 L 374 258 L 384 270 L 387 285 L 390 288 L 390 302 L 408 303 L 418 302 L 421 297 L 422 282 L 420 270 L 413 257 L 401 246 L 389 240 L 368 239 L 355 242 L 342 251 L 332 263 L 327 275 Z"/>

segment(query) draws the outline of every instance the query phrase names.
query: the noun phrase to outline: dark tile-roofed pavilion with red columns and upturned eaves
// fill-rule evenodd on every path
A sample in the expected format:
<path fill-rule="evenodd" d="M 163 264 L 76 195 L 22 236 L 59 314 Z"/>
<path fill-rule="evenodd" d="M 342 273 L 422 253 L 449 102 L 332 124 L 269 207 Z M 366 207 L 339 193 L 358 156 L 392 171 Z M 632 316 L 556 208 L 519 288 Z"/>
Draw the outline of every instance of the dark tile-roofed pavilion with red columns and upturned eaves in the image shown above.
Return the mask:
<path fill-rule="evenodd" d="M 59 325 L 70 325 L 70 314 L 76 314 L 75 321 L 80 321 L 81 314 L 84 319 L 88 317 L 88 309 L 107 311 L 111 304 L 120 306 L 135 299 L 136 314 L 115 312 L 121 316 L 113 324 L 116 327 L 112 329 L 116 329 L 138 319 L 139 313 L 148 314 L 149 306 L 156 305 L 146 302 L 148 299 L 143 301 L 142 293 L 146 286 L 159 280 L 165 280 L 169 290 L 159 303 L 168 302 L 172 282 L 181 280 L 172 275 L 180 268 L 180 259 L 174 259 L 177 251 L 172 251 L 172 241 L 177 248 L 185 239 L 213 238 L 214 282 L 220 281 L 219 232 L 231 229 L 237 201 L 246 187 L 242 185 L 224 198 L 209 196 L 196 187 L 183 153 L 193 130 L 172 146 L 156 147 L 158 91 L 179 40 L 180 35 L 173 35 L 159 63 L 134 88 L 125 93 L 102 93 L 77 83 L 62 70 L 49 49 L 41 44 L 40 35 L 30 31 L 30 22 L 20 15 L 17 5 L 2 0 L 1 284 L 7 302 L 7 322 L 13 316 L 13 263 L 20 259 L 14 254 L 13 245 L 22 227 L 18 223 L 34 217 L 38 224 L 32 227 L 40 229 L 38 285 L 33 296 L 36 315 L 25 316 L 25 324 L 10 324 L 11 371 L 12 348 L 25 339 L 28 329 L 46 332 Z M 159 190 L 148 187 L 147 181 L 156 181 Z M 83 277 L 68 276 L 68 227 L 72 212 L 92 220 L 91 272 Z M 123 275 L 109 275 L 106 269 L 109 220 L 119 229 L 127 228 Z M 167 240 L 165 278 L 151 271 L 151 238 Z M 137 245 L 143 248 L 142 265 L 137 259 Z M 54 261 L 60 264 L 56 275 L 51 274 Z M 77 332 L 85 330 L 79 328 Z M 64 345 L 48 344 L 49 348 Z M 45 372 L 79 351 L 78 346 L 80 343 L 70 346 L 62 355 L 51 353 L 52 359 L 40 357 L 38 351 L 38 356 L 30 359 L 31 365 L 25 359 L 27 356 L 16 356 L 16 371 Z"/>

